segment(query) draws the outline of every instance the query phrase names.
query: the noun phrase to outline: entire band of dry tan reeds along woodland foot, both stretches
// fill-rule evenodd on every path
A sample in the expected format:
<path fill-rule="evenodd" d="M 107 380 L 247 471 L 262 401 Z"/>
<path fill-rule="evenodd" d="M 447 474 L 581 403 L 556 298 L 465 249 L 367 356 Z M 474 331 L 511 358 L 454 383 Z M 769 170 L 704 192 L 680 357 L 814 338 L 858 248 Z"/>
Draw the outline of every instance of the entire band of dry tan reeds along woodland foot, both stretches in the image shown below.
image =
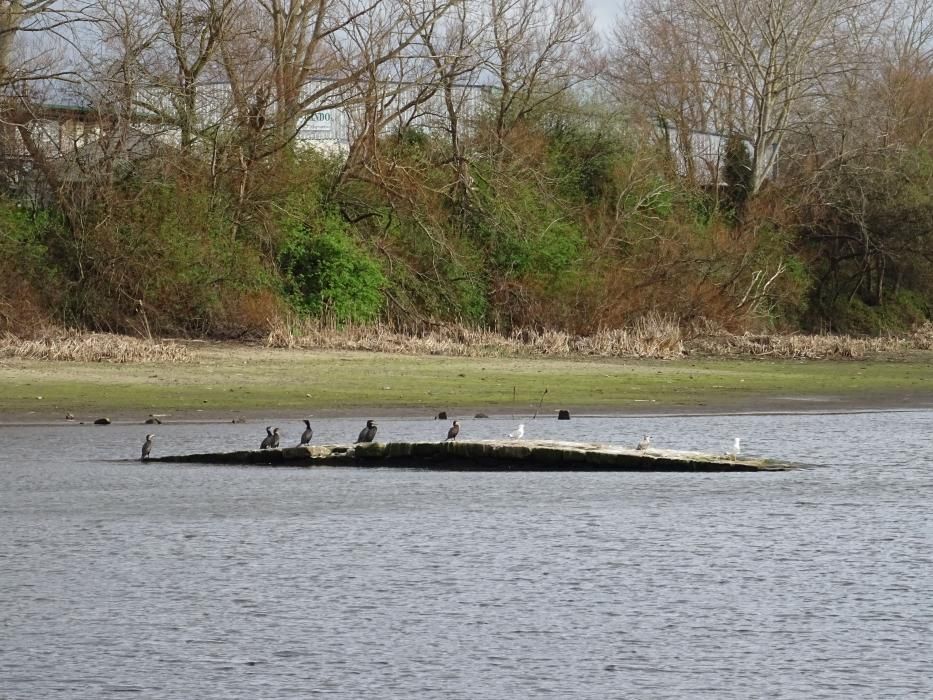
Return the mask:
<path fill-rule="evenodd" d="M 672 360 L 774 358 L 796 360 L 896 359 L 933 350 L 933 322 L 890 336 L 735 334 L 712 324 L 685 329 L 676 319 L 643 318 L 624 328 L 581 336 L 559 330 L 518 329 L 506 335 L 454 324 L 433 324 L 420 333 L 385 324 L 336 326 L 320 321 L 274 320 L 252 346 L 270 349 L 336 350 L 445 355 L 450 357 L 554 357 Z M 45 328 L 23 337 L 0 334 L 0 360 L 61 362 L 192 362 L 197 346 L 211 341 L 137 338 L 113 333 Z M 235 347 L 236 343 L 217 342 Z"/>

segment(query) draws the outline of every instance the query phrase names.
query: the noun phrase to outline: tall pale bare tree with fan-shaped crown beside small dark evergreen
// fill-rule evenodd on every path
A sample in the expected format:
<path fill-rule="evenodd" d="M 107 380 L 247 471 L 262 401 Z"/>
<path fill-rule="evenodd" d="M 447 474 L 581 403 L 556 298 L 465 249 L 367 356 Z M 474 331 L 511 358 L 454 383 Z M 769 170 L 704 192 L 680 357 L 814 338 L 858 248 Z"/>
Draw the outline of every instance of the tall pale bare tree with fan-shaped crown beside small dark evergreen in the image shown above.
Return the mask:
<path fill-rule="evenodd" d="M 832 96 L 840 76 L 864 66 L 851 50 L 852 37 L 877 22 L 867 0 L 646 0 L 633 20 L 623 20 L 616 38 L 627 42 L 622 75 L 644 75 L 659 47 L 661 56 L 683 57 L 683 74 L 668 73 L 669 86 L 704 129 L 738 133 L 751 144 L 751 192 L 774 171 L 781 146 L 813 114 L 808 102 Z M 640 24 L 652 31 L 634 34 Z M 669 37 L 676 37 L 676 44 Z M 680 47 L 679 49 L 677 47 Z M 663 69 L 662 69 L 663 70 Z M 650 85 L 650 79 L 643 82 Z M 686 108 L 686 107 L 682 107 Z M 696 128 L 696 127 L 694 127 Z"/>

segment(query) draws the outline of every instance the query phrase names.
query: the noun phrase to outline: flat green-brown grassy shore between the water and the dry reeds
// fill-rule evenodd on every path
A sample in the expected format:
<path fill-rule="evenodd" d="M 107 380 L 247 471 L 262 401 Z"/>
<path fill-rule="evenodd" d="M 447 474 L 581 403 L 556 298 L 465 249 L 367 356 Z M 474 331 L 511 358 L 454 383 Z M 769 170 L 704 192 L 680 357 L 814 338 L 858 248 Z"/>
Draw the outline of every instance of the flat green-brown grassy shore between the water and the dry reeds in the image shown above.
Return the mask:
<path fill-rule="evenodd" d="M 108 416 L 854 410 L 933 406 L 933 353 L 896 360 L 449 357 L 198 345 L 190 362 L 0 361 L 0 422 Z M 547 393 L 545 393 L 545 389 Z M 41 397 L 41 398 L 39 398 Z"/>

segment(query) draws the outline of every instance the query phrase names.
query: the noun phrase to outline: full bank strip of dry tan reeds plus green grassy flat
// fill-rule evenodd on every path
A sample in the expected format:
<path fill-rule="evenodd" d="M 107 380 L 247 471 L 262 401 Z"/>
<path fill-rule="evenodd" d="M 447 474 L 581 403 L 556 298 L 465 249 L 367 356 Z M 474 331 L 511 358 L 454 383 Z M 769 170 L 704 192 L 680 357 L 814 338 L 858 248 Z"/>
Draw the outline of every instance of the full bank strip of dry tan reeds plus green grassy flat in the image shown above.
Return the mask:
<path fill-rule="evenodd" d="M 798 412 L 933 405 L 933 328 L 891 338 L 582 338 L 274 327 L 253 343 L 47 330 L 0 337 L 0 422 L 262 415 Z M 667 332 L 665 332 L 665 330 Z"/>

